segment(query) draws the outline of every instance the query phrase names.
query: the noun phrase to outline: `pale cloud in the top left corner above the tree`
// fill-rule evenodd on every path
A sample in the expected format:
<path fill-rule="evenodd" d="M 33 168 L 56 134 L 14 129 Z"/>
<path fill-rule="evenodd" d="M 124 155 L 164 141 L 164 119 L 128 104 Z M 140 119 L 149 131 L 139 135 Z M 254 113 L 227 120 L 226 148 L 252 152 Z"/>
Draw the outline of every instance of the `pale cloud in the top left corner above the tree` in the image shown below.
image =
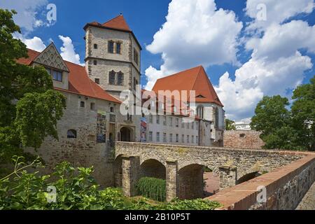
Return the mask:
<path fill-rule="evenodd" d="M 48 0 L 1 0 L 0 8 L 16 10 L 15 23 L 26 31 L 33 31 L 35 27 L 43 25 L 43 21 L 37 19 L 38 10 L 47 4 Z"/>

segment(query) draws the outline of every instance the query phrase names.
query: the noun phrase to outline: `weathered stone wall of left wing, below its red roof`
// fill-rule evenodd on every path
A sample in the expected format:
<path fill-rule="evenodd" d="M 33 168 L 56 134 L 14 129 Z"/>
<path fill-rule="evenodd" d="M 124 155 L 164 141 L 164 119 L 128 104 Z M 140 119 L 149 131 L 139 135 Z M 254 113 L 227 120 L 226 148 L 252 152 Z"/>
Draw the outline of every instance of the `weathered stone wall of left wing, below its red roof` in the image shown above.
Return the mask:
<path fill-rule="evenodd" d="M 43 174 L 49 174 L 59 162 L 68 161 L 73 167 L 94 167 L 94 178 L 102 186 L 113 186 L 113 153 L 109 144 L 109 114 L 113 103 L 101 99 L 79 96 L 62 92 L 66 96 L 64 116 L 57 123 L 59 141 L 47 137 L 38 151 L 27 149 L 38 154 L 45 161 Z M 80 107 L 80 102 L 85 107 Z M 90 109 L 90 103 L 95 109 Z M 106 143 L 97 143 L 97 110 L 106 112 Z M 76 139 L 68 139 L 67 131 L 76 130 Z"/>

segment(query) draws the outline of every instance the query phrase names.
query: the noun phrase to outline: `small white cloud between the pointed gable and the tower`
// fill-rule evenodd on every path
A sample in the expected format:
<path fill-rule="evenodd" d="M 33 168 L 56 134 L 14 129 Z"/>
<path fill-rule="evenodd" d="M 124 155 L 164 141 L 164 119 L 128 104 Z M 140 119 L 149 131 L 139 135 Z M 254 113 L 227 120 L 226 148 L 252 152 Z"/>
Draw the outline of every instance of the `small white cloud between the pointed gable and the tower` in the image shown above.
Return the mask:
<path fill-rule="evenodd" d="M 80 56 L 76 53 L 71 38 L 69 36 L 59 35 L 59 39 L 63 43 L 62 47 L 60 48 L 60 55 L 62 58 L 66 61 L 80 64 Z"/>

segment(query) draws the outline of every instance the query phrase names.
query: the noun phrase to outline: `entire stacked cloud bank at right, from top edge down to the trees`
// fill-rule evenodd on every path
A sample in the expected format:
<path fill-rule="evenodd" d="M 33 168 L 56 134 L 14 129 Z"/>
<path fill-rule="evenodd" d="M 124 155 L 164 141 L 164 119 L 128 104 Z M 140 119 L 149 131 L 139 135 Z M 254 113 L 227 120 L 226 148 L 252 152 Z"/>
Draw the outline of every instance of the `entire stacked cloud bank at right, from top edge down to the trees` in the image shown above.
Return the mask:
<path fill-rule="evenodd" d="M 289 20 L 300 13 L 311 13 L 313 0 L 248 0 L 246 14 L 255 19 L 257 6 L 267 6 L 267 21 L 254 20 L 246 27 L 251 59 L 235 71 L 221 76 L 216 88 L 228 118 L 239 120 L 253 116 L 256 104 L 264 95 L 281 94 L 302 83 L 304 71 L 311 69 L 311 58 L 303 52 L 315 52 L 315 26 L 301 20 Z M 263 32 L 261 32 L 263 31 Z M 261 34 L 259 37 L 255 34 Z"/>

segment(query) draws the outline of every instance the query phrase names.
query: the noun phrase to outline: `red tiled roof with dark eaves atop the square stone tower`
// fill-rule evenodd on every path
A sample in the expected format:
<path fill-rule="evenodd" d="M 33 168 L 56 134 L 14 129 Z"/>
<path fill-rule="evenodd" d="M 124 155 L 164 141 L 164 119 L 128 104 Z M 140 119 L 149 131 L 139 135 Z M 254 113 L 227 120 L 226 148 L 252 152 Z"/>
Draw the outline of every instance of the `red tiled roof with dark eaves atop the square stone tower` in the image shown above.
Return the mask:
<path fill-rule="evenodd" d="M 98 27 L 98 28 L 103 28 L 103 29 L 115 29 L 118 31 L 127 31 L 129 33 L 132 34 L 132 36 L 134 37 L 134 39 L 136 40 L 136 42 L 139 45 L 140 50 L 142 50 L 141 45 L 139 43 L 139 41 L 137 40 L 137 37 L 134 35 L 134 32 L 132 31 L 132 29 L 130 29 L 129 25 L 127 24 L 125 18 L 123 15 L 118 15 L 116 18 L 113 18 L 107 22 L 99 23 L 99 22 L 88 22 L 83 29 L 86 30 L 87 27 L 92 26 L 92 27 Z"/>

